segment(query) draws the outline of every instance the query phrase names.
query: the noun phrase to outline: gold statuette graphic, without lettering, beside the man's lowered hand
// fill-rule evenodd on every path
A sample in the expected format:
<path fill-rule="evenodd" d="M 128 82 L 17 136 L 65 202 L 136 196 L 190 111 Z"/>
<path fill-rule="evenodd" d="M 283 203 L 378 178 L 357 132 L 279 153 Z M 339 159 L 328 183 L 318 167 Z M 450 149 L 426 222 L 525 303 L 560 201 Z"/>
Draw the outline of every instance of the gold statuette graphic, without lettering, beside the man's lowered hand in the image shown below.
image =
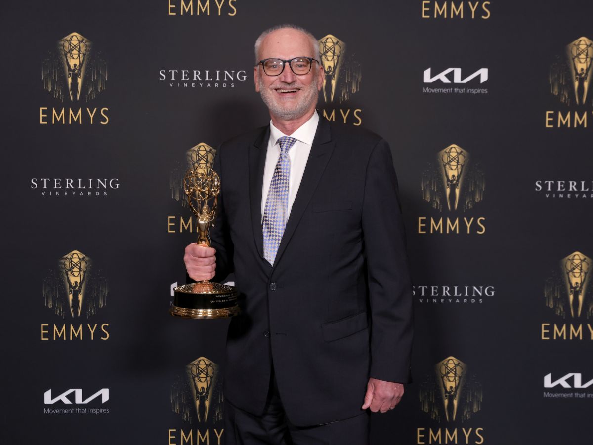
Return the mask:
<path fill-rule="evenodd" d="M 420 385 L 421 409 L 432 420 L 464 422 L 480 411 L 482 385 L 467 369 L 466 363 L 449 356 L 436 363 L 432 376 Z"/>

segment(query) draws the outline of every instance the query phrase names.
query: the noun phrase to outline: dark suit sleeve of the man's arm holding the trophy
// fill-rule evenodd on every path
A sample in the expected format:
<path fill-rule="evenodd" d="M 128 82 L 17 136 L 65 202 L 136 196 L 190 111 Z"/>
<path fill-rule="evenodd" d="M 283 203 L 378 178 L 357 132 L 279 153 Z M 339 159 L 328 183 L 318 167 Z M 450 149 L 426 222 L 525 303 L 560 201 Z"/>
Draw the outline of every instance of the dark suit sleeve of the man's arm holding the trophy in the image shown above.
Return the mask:
<path fill-rule="evenodd" d="M 222 172 L 221 161 L 222 146 L 216 150 L 216 156 L 212 165 L 212 169 L 218 174 L 221 180 L 221 191 L 218 194 L 218 206 L 216 207 L 216 216 L 214 224 L 208 231 L 210 237 L 210 245 L 216 249 L 216 272 L 212 281 L 219 283 L 224 280 L 228 274 L 234 272 L 233 258 L 233 244 L 228 228 L 228 220 L 224 208 L 224 175 Z M 195 280 L 189 277 L 186 272 L 187 283 L 192 283 Z"/>

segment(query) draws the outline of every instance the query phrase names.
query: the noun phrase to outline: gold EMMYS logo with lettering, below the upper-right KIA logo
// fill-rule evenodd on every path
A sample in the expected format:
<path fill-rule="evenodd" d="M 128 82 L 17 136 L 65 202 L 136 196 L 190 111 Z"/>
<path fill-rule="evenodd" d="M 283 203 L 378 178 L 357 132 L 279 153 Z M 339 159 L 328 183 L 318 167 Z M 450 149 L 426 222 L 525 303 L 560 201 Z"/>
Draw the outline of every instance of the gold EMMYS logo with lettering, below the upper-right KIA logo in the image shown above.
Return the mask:
<path fill-rule="evenodd" d="M 470 153 L 458 145 L 449 145 L 437 153 L 435 161 L 422 174 L 422 199 L 435 212 L 466 213 L 484 197 L 484 174 Z M 418 217 L 418 233 L 486 232 L 485 217 Z"/>

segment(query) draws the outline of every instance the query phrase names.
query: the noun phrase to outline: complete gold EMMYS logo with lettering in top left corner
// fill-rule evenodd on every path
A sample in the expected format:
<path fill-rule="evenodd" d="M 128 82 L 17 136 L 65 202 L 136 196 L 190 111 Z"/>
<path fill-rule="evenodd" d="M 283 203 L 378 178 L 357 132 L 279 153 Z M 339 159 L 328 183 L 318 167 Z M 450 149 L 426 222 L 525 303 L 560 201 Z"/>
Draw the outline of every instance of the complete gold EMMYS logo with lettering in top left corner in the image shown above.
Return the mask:
<path fill-rule="evenodd" d="M 58 40 L 42 65 L 43 88 L 55 100 L 69 107 L 39 107 L 39 123 L 109 123 L 109 108 L 81 106 L 92 101 L 106 88 L 107 62 L 94 44 L 82 34 L 71 33 Z M 78 107 L 76 107 L 78 105 Z"/>

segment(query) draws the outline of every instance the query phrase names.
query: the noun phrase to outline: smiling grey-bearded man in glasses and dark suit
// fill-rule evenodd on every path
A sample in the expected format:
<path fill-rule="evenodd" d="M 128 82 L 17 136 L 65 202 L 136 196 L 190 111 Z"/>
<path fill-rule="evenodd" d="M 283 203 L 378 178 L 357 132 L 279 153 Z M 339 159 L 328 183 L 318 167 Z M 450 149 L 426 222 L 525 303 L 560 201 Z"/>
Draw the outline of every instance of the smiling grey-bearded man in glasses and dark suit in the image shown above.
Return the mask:
<path fill-rule="evenodd" d="M 412 299 L 391 152 L 315 111 L 317 40 L 264 31 L 254 81 L 270 124 L 222 144 L 212 248 L 193 280 L 235 273 L 227 341 L 227 444 L 368 444 L 409 379 Z"/>

